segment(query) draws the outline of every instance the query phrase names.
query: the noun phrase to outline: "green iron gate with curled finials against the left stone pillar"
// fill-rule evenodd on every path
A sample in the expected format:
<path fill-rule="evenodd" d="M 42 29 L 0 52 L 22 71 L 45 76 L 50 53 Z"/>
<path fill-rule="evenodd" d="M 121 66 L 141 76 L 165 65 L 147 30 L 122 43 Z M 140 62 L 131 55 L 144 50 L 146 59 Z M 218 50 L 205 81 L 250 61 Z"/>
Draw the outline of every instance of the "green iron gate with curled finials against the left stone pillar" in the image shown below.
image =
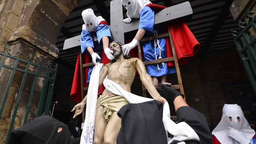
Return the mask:
<path fill-rule="evenodd" d="M 38 103 L 35 104 L 38 106 L 37 112 L 35 117 L 38 117 L 42 114 L 48 115 L 50 111 L 50 106 L 51 106 L 51 97 L 53 94 L 53 87 L 54 87 L 54 82 L 55 82 L 55 77 L 57 73 L 57 64 L 54 66 L 54 69 L 51 68 L 51 63 L 48 61 L 46 63 L 46 66 L 42 65 L 42 58 L 39 58 L 37 60 L 37 63 L 32 62 L 32 54 L 29 54 L 27 59 L 24 59 L 22 57 L 22 51 L 19 50 L 16 55 L 11 55 L 10 54 L 11 49 L 9 49 L 9 46 L 3 49 L 3 51 L 0 51 L 0 80 L 2 80 L 2 83 L 6 83 L 5 89 L 0 89 L 2 91 L 3 95 L 0 95 L 0 101 L 1 107 L 0 107 L 0 120 L 3 117 L 3 112 L 6 104 L 8 104 L 8 97 L 10 97 L 10 89 L 13 83 L 13 79 L 15 77 L 15 72 L 22 72 L 23 76 L 21 75 L 20 79 L 20 85 L 18 86 L 18 92 L 15 95 L 15 100 L 13 104 L 13 110 L 11 112 L 11 120 L 10 120 L 10 125 L 6 137 L 6 143 L 8 143 L 8 139 L 10 137 L 10 133 L 13 130 L 14 123 L 15 123 L 15 117 L 17 116 L 17 110 L 20 105 L 20 101 L 23 100 L 21 99 L 22 96 L 22 91 L 24 91 L 24 85 L 27 83 L 30 83 L 32 85 L 30 87 L 30 94 L 27 93 L 26 97 L 28 98 L 27 106 L 26 106 L 26 113 L 24 114 L 24 120 L 23 120 L 23 125 L 28 122 L 28 117 L 31 115 L 29 113 L 30 111 L 36 111 L 35 109 L 31 109 L 31 102 L 33 99 L 33 96 L 35 95 L 35 90 L 40 91 L 38 93 Z M 6 62 L 7 61 L 7 62 Z M 12 61 L 12 62 L 11 62 Z M 10 63 L 13 63 L 13 65 L 10 65 Z M 22 63 L 24 66 L 23 68 L 18 67 L 18 64 Z M 4 70 L 3 70 L 4 69 Z M 4 71 L 9 75 L 9 80 L 8 78 L 4 77 Z M 29 77 L 28 77 L 29 75 Z M 31 78 L 34 77 L 34 78 Z M 41 89 L 37 88 L 38 85 L 38 79 L 41 81 Z M 5 80 L 5 81 L 4 81 Z M 17 79 L 15 79 L 17 80 Z M 28 82 L 27 82 L 28 81 Z M 3 84 L 1 84 L 3 85 Z M 26 87 L 26 86 L 25 86 Z M 26 90 L 27 91 L 27 90 Z M 24 94 L 23 94 L 24 95 Z M 40 96 L 40 98 L 39 98 Z M 35 118 L 34 117 L 34 118 Z M 33 118 L 32 118 L 33 119 Z"/>

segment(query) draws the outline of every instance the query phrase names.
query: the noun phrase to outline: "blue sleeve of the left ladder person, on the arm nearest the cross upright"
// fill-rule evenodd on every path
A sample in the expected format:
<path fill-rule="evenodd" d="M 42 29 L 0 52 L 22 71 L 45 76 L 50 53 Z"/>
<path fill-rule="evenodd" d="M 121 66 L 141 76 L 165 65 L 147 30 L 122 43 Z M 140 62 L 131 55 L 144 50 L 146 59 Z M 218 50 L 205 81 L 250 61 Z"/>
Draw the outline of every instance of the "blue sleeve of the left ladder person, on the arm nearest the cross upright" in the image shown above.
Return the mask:
<path fill-rule="evenodd" d="M 111 34 L 110 34 L 109 26 L 105 24 L 99 24 L 96 34 L 97 34 L 97 39 L 99 43 L 102 41 L 102 38 L 104 36 L 109 37 L 109 42 L 111 42 Z"/>

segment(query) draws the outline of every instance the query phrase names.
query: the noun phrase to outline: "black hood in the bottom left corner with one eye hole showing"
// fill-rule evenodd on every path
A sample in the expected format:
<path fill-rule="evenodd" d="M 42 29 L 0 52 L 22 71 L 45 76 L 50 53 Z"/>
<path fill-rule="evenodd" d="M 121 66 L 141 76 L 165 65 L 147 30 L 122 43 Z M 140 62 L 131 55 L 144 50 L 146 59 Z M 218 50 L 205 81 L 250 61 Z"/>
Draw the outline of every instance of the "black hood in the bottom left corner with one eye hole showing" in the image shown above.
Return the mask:
<path fill-rule="evenodd" d="M 58 128 L 62 130 L 58 132 Z M 78 139 L 80 140 L 80 138 Z M 72 144 L 67 125 L 48 115 L 12 131 L 9 144 Z"/>

